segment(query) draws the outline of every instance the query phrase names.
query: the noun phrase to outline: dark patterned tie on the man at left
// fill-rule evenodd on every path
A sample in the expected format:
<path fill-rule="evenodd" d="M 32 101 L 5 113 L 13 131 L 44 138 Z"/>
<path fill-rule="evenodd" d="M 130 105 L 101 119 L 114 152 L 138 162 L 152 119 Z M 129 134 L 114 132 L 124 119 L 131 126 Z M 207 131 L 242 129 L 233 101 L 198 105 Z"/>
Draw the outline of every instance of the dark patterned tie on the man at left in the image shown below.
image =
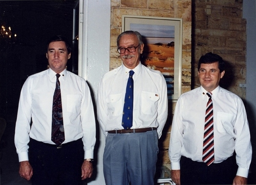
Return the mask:
<path fill-rule="evenodd" d="M 52 141 L 57 145 L 60 145 L 65 140 L 59 76 L 60 74 L 56 74 L 56 88 L 52 105 Z"/>

